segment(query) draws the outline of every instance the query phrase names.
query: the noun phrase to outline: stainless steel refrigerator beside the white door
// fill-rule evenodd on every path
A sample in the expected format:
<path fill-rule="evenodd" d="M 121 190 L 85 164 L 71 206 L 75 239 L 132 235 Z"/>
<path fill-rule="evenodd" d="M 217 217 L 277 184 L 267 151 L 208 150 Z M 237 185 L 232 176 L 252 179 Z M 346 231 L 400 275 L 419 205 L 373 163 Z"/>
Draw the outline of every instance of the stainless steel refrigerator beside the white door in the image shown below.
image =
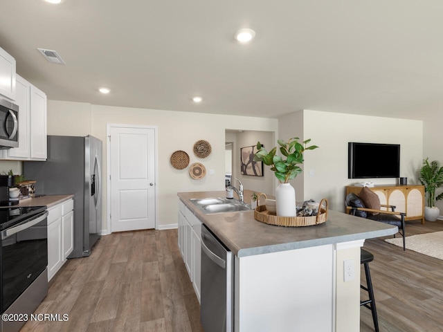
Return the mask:
<path fill-rule="evenodd" d="M 24 162 L 36 195 L 74 194 L 74 250 L 91 254 L 102 230 L 102 141 L 93 136 L 48 136 L 46 161 Z"/>

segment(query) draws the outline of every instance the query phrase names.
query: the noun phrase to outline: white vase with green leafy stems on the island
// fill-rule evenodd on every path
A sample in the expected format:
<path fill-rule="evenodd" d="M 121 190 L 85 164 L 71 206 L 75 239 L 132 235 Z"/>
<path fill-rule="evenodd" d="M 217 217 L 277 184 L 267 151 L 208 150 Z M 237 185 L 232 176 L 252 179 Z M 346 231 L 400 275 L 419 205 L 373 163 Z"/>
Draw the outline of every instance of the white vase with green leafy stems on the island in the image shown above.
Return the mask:
<path fill-rule="evenodd" d="M 264 165 L 271 166 L 271 171 L 278 178 L 280 185 L 275 190 L 275 205 L 277 207 L 278 216 L 295 216 L 296 215 L 296 192 L 289 183 L 289 180 L 296 178 L 302 172 L 300 164 L 303 163 L 303 153 L 305 150 L 317 149 L 316 145 L 307 146 L 311 139 L 298 142 L 300 138 L 290 138 L 287 142 L 278 140 L 280 145 L 280 153 L 278 156 L 277 147 L 273 147 L 271 151 L 266 151 L 264 147 L 257 142 L 257 153 L 254 156 L 255 161 L 262 161 Z"/>

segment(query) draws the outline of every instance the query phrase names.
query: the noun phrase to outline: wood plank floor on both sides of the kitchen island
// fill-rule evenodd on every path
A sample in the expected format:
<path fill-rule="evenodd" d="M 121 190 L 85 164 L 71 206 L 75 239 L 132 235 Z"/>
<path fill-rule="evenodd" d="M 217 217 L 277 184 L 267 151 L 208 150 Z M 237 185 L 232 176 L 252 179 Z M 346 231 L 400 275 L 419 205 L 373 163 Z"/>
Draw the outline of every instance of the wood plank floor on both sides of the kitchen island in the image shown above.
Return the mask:
<path fill-rule="evenodd" d="M 443 221 L 407 225 L 408 235 L 440 230 Z M 443 331 L 443 261 L 382 239 L 364 248 L 374 254 L 380 331 Z M 28 322 L 21 331 L 202 331 L 177 230 L 102 237 L 90 257 L 70 259 L 51 280 L 37 313 L 67 313 L 69 321 Z M 362 307 L 361 332 L 367 331 L 374 331 L 372 316 Z"/>

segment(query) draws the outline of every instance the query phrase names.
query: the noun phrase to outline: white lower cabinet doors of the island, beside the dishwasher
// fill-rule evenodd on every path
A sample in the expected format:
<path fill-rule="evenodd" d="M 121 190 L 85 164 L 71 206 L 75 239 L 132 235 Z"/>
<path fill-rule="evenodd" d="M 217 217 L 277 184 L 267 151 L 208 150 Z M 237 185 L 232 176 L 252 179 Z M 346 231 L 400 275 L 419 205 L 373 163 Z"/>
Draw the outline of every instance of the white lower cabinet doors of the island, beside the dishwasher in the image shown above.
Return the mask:
<path fill-rule="evenodd" d="M 201 221 L 179 201 L 178 245 L 181 256 L 200 302 Z"/>

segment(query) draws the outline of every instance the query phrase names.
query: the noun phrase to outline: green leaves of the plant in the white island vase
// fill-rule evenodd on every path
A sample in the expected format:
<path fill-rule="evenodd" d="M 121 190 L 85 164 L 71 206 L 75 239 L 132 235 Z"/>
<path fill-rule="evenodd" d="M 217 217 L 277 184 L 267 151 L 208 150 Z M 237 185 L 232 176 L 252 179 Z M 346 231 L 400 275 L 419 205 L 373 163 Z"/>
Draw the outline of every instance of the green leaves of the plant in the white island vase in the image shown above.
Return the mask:
<path fill-rule="evenodd" d="M 314 150 L 318 146 L 307 146 L 311 139 L 298 142 L 300 138 L 290 138 L 287 142 L 284 140 L 278 140 L 280 145 L 280 153 L 283 155 L 278 156 L 276 154 L 277 147 L 273 147 L 271 151 L 266 151 L 264 147 L 257 142 L 257 153 L 254 156 L 254 161 L 262 161 L 264 165 L 271 166 L 271 171 L 274 172 L 275 177 L 278 178 L 280 183 L 288 183 L 289 180 L 296 178 L 298 174 L 302 172 L 300 164 L 303 163 L 303 152 L 305 150 Z M 284 159 L 286 157 L 286 159 Z"/>

